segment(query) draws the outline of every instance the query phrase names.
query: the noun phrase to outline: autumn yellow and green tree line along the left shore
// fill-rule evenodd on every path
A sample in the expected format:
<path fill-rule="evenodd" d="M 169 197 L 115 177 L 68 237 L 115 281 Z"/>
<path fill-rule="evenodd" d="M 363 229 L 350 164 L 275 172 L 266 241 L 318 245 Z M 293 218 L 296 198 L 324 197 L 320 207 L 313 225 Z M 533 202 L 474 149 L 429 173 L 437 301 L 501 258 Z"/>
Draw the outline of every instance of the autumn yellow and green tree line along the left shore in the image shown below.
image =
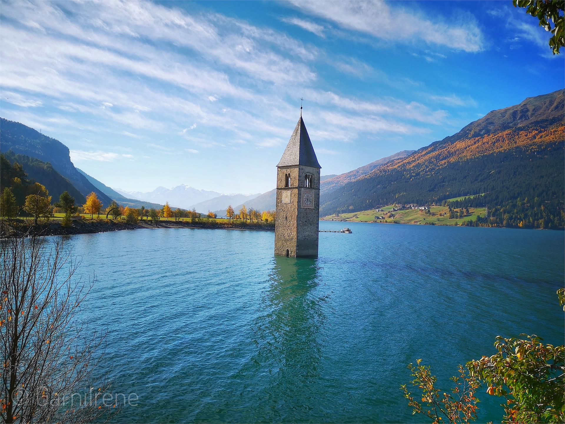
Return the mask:
<path fill-rule="evenodd" d="M 202 214 L 195 209 L 171 207 L 168 202 L 160 209 L 124 207 L 115 200 L 103 205 L 95 192 L 88 194 L 82 205 L 77 205 L 68 191 L 60 194 L 58 201 L 53 201 L 47 188 L 29 180 L 19 163 L 11 165 L 5 160 L 2 160 L 0 191 L 3 237 L 26 232 L 29 227 L 33 227 L 34 232 L 54 235 L 151 226 L 254 229 L 275 226 L 275 211 L 247 209 L 245 205 L 238 211 L 229 205 L 225 213 L 227 218 L 218 218 L 211 211 Z"/>

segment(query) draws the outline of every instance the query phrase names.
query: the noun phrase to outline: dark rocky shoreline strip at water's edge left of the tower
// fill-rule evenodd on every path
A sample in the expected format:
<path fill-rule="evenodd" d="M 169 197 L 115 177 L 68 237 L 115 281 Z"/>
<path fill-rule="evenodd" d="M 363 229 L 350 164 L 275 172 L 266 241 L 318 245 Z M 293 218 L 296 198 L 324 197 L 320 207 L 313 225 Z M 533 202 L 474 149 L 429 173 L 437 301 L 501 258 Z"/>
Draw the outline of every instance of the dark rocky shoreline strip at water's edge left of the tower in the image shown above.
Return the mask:
<path fill-rule="evenodd" d="M 255 230 L 255 231 L 274 231 L 275 226 L 261 226 L 257 224 L 223 224 L 214 222 L 183 222 L 183 221 L 163 221 L 157 225 L 149 222 L 138 222 L 128 224 L 122 221 L 106 219 L 83 219 L 73 221 L 72 226 L 63 227 L 59 220 L 38 223 L 34 228 L 33 224 L 24 220 L 16 220 L 13 223 L 0 223 L 0 239 L 21 235 L 41 235 L 57 236 L 72 234 L 90 234 L 97 232 L 158 229 L 158 228 L 192 228 L 208 230 Z"/>

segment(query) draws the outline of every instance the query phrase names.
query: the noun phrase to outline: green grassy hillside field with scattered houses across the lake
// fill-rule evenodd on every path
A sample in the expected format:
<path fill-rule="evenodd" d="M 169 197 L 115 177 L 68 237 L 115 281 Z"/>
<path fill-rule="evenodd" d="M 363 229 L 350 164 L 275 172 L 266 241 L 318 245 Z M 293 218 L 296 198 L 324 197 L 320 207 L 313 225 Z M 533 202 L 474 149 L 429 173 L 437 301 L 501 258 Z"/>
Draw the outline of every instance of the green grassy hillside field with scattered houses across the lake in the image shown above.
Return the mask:
<path fill-rule="evenodd" d="M 484 207 L 470 207 L 469 213 L 463 218 L 449 219 L 449 207 L 446 206 L 432 206 L 430 207 L 431 214 L 425 213 L 423 210 L 419 209 L 407 209 L 407 210 L 397 210 L 390 212 L 392 210 L 392 205 L 381 207 L 385 212 L 377 212 L 376 209 L 363 210 L 359 212 L 353 212 L 349 214 L 340 214 L 338 217 L 336 215 L 329 215 L 324 217 L 324 220 L 342 220 L 342 221 L 353 221 L 353 222 L 396 222 L 399 224 L 426 224 L 434 223 L 437 225 L 459 225 L 468 220 L 475 220 L 477 216 L 485 216 Z M 392 218 L 385 219 L 375 219 L 375 217 L 388 216 L 390 213 L 393 214 Z M 440 216 L 441 214 L 441 216 Z M 446 214 L 445 216 L 443 214 Z"/>

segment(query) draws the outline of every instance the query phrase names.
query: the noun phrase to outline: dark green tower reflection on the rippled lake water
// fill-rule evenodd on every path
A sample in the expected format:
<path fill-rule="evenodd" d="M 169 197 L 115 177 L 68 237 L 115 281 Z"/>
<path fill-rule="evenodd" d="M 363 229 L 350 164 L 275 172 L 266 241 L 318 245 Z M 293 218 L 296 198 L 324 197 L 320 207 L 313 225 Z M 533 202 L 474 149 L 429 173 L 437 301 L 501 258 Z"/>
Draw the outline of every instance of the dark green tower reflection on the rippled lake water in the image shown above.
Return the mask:
<path fill-rule="evenodd" d="M 273 258 L 263 315 L 255 320 L 258 352 L 251 359 L 263 418 L 305 419 L 318 408 L 325 321 L 316 259 Z M 320 411 L 316 415 L 320 417 Z"/>

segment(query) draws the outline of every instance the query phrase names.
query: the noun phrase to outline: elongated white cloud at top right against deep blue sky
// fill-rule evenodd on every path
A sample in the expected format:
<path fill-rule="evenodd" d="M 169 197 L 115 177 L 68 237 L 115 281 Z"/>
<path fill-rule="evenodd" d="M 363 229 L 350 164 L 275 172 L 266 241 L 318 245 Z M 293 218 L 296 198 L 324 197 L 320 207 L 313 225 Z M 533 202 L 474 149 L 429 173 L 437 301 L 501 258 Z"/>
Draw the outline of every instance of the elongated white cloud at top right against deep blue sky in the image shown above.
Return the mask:
<path fill-rule="evenodd" d="M 471 14 L 459 14 L 458 19 L 429 18 L 399 2 L 389 5 L 382 0 L 355 2 L 320 2 L 292 0 L 295 7 L 341 25 L 345 29 L 369 34 L 388 42 L 445 46 L 469 52 L 484 49 L 483 33 Z"/>

